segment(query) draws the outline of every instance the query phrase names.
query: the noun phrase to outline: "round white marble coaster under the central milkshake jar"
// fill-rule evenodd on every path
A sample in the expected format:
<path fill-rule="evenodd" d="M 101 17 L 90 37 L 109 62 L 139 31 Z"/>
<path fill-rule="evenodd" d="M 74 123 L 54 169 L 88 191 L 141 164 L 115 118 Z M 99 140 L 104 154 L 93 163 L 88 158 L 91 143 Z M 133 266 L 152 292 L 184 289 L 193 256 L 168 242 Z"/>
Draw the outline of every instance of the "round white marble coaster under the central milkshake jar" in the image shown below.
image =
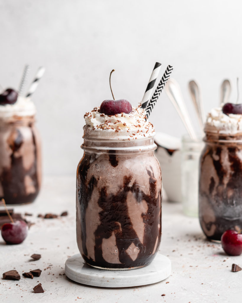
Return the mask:
<path fill-rule="evenodd" d="M 71 280 L 99 287 L 135 287 L 165 280 L 171 274 L 171 261 L 157 254 L 151 264 L 131 270 L 105 270 L 89 266 L 80 254 L 66 260 L 65 274 Z"/>

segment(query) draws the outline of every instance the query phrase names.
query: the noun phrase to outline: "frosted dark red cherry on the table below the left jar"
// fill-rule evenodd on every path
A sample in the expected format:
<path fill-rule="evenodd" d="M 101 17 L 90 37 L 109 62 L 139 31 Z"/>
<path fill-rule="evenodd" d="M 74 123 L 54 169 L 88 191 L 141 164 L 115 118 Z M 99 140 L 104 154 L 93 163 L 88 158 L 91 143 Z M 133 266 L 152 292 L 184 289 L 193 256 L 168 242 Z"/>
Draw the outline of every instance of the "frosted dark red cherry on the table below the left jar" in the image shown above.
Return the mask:
<path fill-rule="evenodd" d="M 2 238 L 7 244 L 20 244 L 28 235 L 28 225 L 25 221 L 15 221 L 2 225 Z"/>

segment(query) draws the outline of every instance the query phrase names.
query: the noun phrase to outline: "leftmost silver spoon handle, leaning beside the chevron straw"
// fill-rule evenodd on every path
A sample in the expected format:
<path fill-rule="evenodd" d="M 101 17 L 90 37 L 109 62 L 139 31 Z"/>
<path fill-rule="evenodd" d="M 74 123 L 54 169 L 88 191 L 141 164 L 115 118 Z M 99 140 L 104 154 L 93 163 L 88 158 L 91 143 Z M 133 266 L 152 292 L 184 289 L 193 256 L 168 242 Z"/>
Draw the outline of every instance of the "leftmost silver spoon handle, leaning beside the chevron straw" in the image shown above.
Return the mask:
<path fill-rule="evenodd" d="M 178 115 L 180 116 L 181 121 L 185 125 L 185 128 L 187 129 L 191 139 L 197 140 L 196 133 L 191 123 L 191 118 L 188 114 L 185 102 L 182 98 L 180 86 L 173 78 L 170 78 L 167 81 L 165 85 L 165 92 L 168 95 L 168 98 L 170 99 L 172 104 L 174 105 L 176 111 L 178 112 Z"/>

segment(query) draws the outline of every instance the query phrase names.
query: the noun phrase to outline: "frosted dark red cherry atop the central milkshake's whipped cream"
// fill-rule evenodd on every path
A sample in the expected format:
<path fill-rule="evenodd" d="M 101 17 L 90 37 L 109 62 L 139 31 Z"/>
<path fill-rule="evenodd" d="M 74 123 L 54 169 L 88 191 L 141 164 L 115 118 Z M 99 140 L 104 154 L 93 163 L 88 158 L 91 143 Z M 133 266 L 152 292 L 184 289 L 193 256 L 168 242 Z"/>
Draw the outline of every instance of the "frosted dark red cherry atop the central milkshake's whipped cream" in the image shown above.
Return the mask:
<path fill-rule="evenodd" d="M 100 106 L 100 113 L 113 116 L 116 114 L 129 114 L 132 112 L 132 105 L 126 99 L 104 100 Z"/>

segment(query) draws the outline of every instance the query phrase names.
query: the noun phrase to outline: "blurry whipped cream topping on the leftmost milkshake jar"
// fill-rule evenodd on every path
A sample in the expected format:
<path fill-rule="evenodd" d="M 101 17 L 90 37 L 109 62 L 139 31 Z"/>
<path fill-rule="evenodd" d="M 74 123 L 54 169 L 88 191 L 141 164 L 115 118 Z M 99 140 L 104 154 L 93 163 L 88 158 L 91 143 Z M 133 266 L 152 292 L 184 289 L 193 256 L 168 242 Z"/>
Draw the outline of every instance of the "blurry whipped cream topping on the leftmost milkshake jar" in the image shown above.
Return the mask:
<path fill-rule="evenodd" d="M 36 108 L 30 98 L 18 96 L 14 104 L 0 105 L 0 118 L 33 116 L 35 113 Z"/>

